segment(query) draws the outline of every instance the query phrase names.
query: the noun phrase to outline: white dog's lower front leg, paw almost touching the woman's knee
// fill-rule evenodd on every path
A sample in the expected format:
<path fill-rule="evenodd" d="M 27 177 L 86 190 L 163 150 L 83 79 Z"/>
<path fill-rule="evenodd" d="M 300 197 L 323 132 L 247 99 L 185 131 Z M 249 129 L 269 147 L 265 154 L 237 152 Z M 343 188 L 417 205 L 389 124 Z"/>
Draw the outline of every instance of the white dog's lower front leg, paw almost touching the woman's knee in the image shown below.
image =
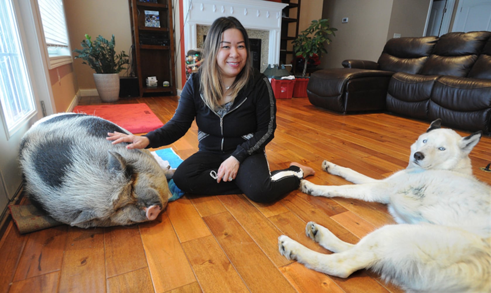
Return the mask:
<path fill-rule="evenodd" d="M 317 185 L 308 180 L 300 181 L 300 191 L 313 196 L 343 197 L 366 202 L 388 204 L 390 197 L 385 191 L 385 182 L 350 184 L 350 185 Z"/>

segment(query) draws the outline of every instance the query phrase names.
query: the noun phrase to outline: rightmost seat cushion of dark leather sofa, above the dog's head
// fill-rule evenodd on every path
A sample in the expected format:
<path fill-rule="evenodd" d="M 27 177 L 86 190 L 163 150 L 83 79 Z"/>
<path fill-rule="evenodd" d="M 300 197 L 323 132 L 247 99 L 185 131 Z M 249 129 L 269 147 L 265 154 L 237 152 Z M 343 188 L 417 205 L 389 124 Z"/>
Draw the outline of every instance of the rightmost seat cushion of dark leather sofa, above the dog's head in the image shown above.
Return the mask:
<path fill-rule="evenodd" d="M 428 108 L 430 120 L 471 131 L 489 132 L 491 122 L 491 80 L 439 77 Z"/>

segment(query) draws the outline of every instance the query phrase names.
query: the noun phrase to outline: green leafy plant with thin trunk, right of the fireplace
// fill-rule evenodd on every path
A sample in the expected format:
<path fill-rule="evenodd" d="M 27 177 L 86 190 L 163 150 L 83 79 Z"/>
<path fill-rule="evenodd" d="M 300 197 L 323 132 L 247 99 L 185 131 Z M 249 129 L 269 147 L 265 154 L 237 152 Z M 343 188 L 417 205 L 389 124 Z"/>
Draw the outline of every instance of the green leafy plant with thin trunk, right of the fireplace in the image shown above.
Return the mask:
<path fill-rule="evenodd" d="M 308 60 L 314 54 L 317 54 L 320 58 L 323 53 L 327 53 L 325 43 L 330 44 L 332 42 L 329 36 L 335 36 L 334 31 L 336 30 L 329 26 L 328 19 L 313 20 L 310 26 L 292 41 L 295 55 L 305 59 L 302 76 L 305 76 Z"/>

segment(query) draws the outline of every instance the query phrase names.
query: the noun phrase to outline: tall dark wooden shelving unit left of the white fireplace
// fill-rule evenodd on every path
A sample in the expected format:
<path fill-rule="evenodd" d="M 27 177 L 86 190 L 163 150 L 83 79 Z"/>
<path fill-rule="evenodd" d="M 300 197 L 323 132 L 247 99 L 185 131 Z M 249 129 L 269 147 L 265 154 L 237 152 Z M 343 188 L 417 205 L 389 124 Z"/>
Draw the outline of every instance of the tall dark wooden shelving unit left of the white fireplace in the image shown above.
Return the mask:
<path fill-rule="evenodd" d="M 140 96 L 158 93 L 176 94 L 172 0 L 157 3 L 129 0 L 133 38 L 133 61 Z M 145 26 L 145 11 L 158 12 L 160 27 Z M 157 77 L 157 87 L 147 87 L 146 78 Z M 170 86 L 164 87 L 168 81 Z"/>

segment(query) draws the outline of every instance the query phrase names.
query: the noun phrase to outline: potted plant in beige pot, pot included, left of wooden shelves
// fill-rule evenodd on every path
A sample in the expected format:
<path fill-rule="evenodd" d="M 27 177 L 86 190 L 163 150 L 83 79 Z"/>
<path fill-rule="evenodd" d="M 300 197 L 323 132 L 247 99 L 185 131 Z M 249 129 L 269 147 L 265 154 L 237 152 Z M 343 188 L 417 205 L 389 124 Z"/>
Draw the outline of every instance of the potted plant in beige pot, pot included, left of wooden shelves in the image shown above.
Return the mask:
<path fill-rule="evenodd" d="M 81 45 L 82 50 L 73 50 L 79 54 L 75 59 L 82 59 L 82 64 L 87 64 L 95 70 L 94 81 L 101 100 L 116 101 L 119 98 L 119 72 L 126 69 L 123 67 L 125 64 L 130 63 L 128 55 L 124 51 L 116 54 L 114 35 L 110 41 L 101 35 L 92 41 L 91 37 L 85 34 Z"/>

